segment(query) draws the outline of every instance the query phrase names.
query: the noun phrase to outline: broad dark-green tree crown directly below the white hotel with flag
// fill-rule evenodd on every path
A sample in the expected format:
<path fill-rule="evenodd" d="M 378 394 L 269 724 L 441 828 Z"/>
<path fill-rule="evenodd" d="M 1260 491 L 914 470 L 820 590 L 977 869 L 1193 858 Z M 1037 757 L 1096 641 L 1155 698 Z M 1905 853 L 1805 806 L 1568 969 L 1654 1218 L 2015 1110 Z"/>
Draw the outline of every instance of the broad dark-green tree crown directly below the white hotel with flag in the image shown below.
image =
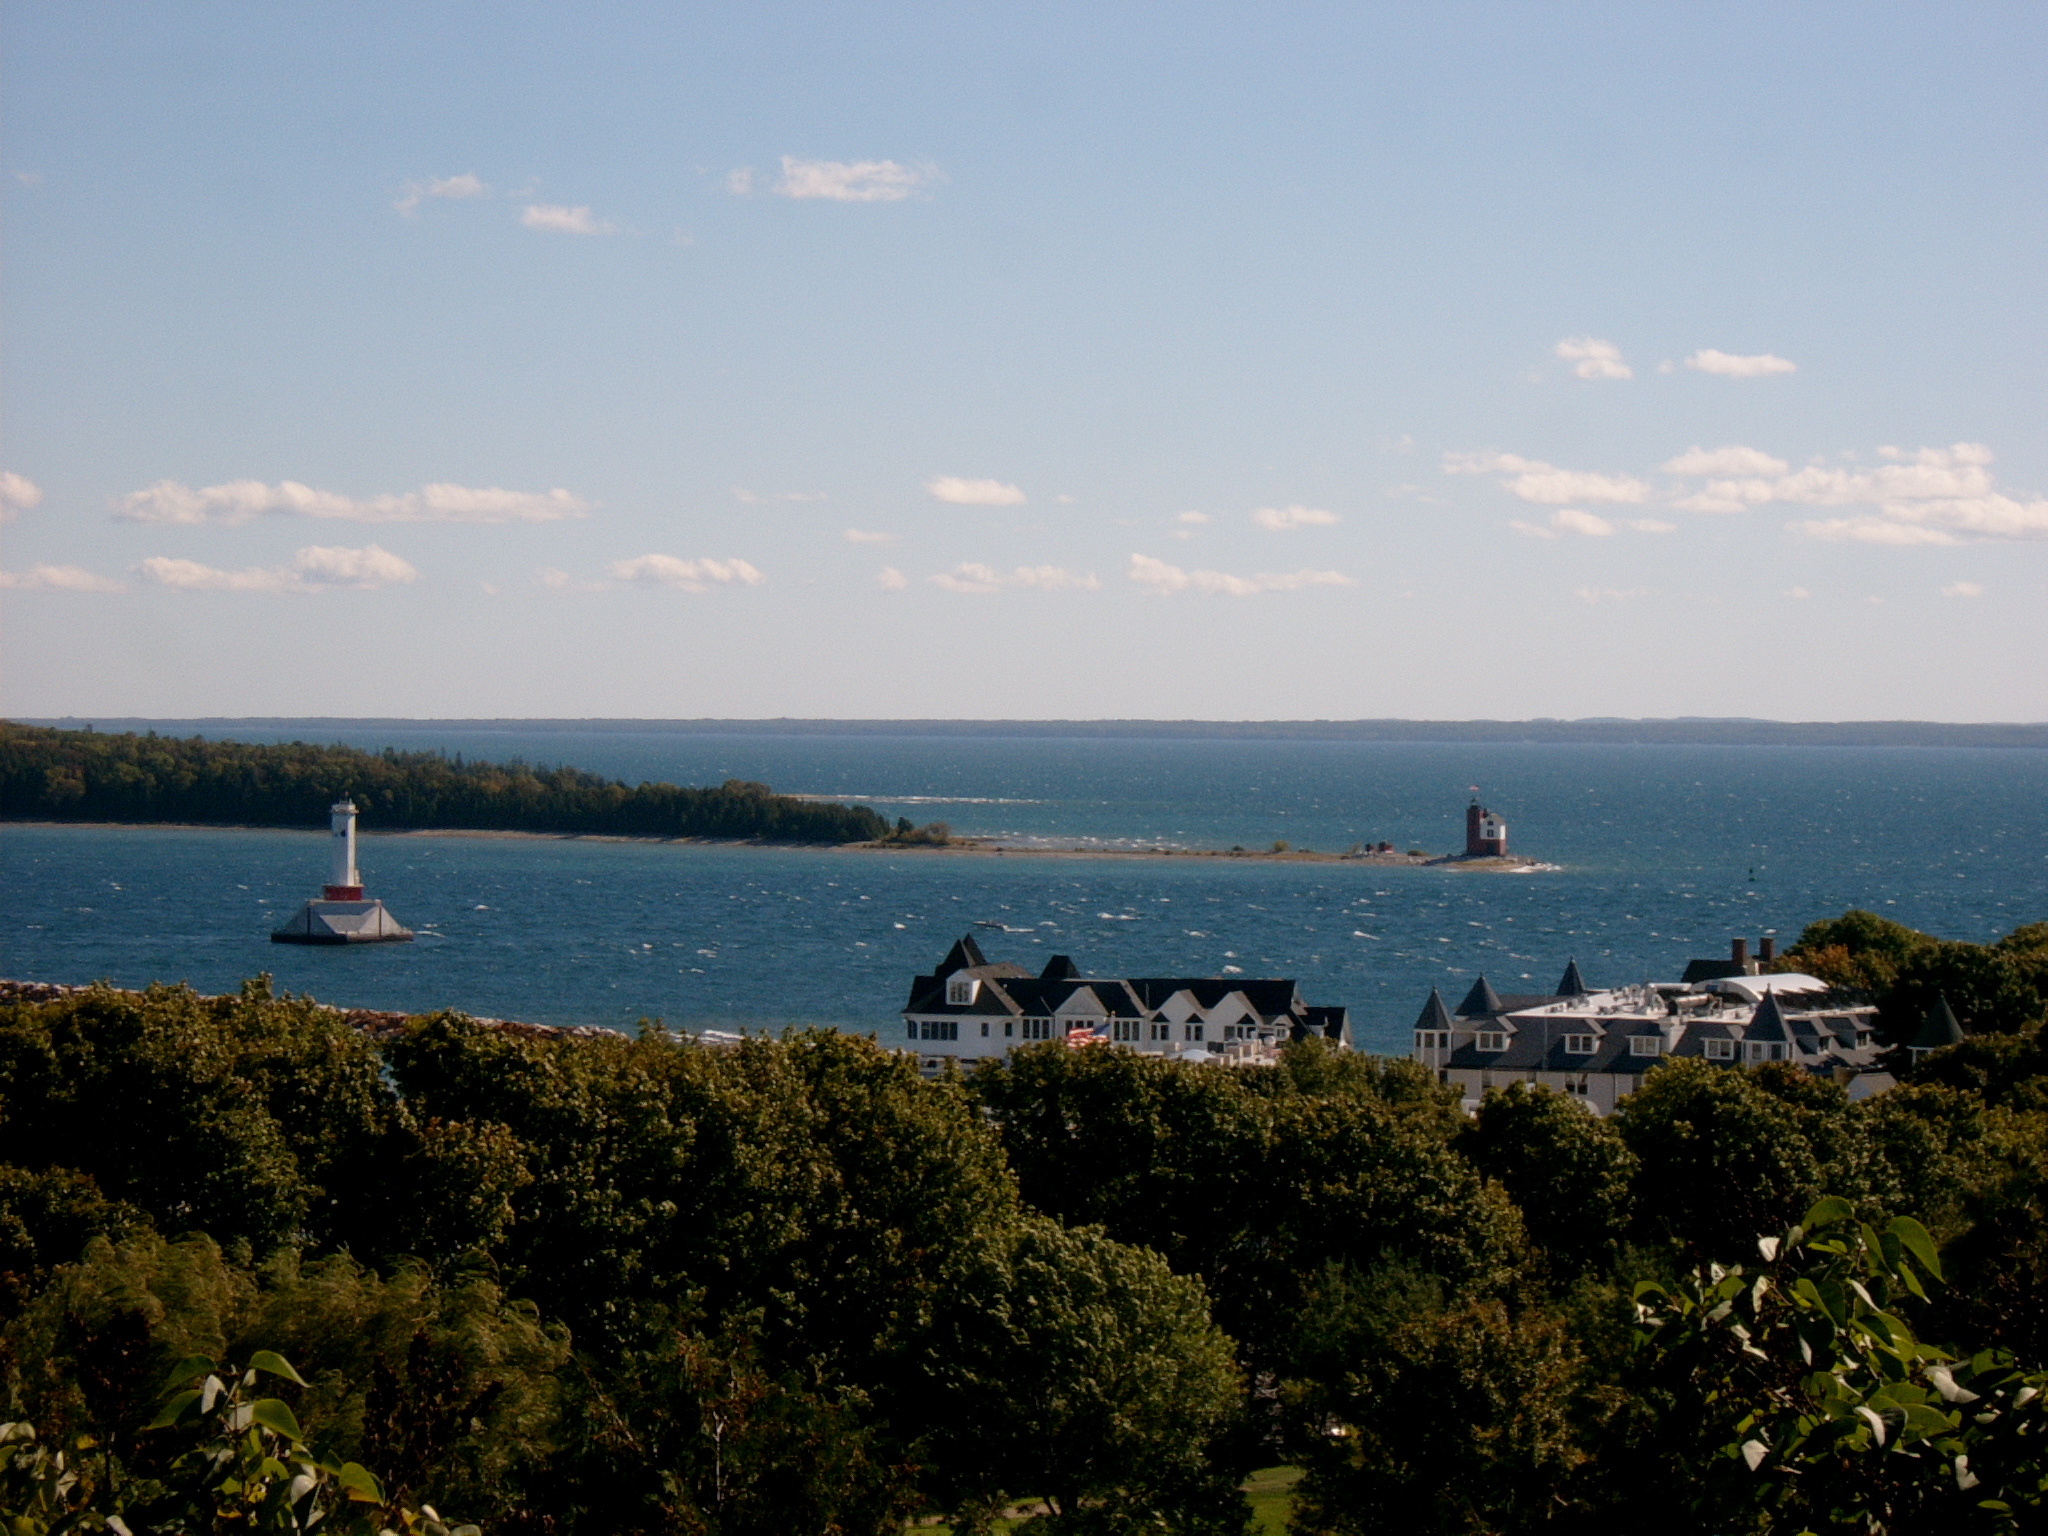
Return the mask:
<path fill-rule="evenodd" d="M 1331 1055 L 1247 1073 L 1053 1042 L 971 1090 L 1032 1208 L 1200 1276 L 1257 1354 L 1331 1260 L 1405 1255 L 1481 1286 L 1520 1262 L 1516 1212 L 1454 1151 L 1456 1110 L 1427 1075 Z"/>

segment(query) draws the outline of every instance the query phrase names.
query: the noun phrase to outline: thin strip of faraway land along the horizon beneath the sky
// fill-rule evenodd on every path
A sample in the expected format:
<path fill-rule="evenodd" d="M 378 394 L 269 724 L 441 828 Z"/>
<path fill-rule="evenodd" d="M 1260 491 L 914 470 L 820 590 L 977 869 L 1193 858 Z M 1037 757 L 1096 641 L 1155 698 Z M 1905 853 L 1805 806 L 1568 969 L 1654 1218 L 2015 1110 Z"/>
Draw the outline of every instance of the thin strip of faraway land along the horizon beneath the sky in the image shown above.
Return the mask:
<path fill-rule="evenodd" d="M 1067 741 L 1380 741 L 1409 745 L 1778 745 L 1778 748 L 2021 748 L 2048 750 L 2048 723 L 1759 721 L 1759 719 L 1532 719 L 1532 721 L 963 721 L 963 719 L 399 719 L 244 715 L 143 719 L 113 715 L 10 717 L 20 725 L 102 731 L 518 731 L 618 735 L 848 735 Z"/>

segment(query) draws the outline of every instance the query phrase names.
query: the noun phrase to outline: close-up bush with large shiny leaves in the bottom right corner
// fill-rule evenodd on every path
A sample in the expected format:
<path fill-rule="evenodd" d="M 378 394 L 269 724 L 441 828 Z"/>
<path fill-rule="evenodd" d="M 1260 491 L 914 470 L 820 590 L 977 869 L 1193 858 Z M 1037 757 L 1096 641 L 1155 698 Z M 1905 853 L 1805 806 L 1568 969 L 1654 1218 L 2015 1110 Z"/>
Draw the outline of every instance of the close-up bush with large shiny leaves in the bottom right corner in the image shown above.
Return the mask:
<path fill-rule="evenodd" d="M 1636 1286 L 1647 1374 L 1698 1403 L 1694 1509 L 1714 1530 L 2038 1530 L 2048 1374 L 1925 1343 L 1942 1264 L 1909 1217 L 1827 1196 L 1763 1264 Z M 1921 1307 L 1915 1307 L 1919 1303 Z"/>

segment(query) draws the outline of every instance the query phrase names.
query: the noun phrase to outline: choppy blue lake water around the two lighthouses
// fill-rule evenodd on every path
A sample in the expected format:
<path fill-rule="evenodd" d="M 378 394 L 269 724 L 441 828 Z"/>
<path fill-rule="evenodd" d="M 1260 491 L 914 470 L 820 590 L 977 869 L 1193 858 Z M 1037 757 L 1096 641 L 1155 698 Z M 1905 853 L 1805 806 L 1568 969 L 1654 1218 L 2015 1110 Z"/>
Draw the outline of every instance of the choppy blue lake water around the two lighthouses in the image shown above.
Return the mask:
<path fill-rule="evenodd" d="M 166 727 L 176 729 L 176 727 Z M 240 731 L 248 739 L 279 733 Z M 283 735 L 291 735 L 285 731 Z M 256 971 L 324 1001 L 555 1024 L 891 1022 L 973 928 L 993 958 L 1106 975 L 1298 977 L 1399 1051 L 1432 985 L 1675 975 L 1733 934 L 1784 942 L 1872 907 L 1952 938 L 2048 920 L 2048 754 L 1937 748 L 1567 748 L 338 733 L 571 762 L 625 778 L 760 778 L 1044 844 L 1343 850 L 1462 844 L 1468 786 L 1561 868 L 1087 860 L 582 840 L 365 836 L 371 893 L 420 940 L 299 948 L 268 930 L 324 879 L 326 834 L 0 827 L 0 973 L 190 981 Z M 373 827 L 369 831 L 375 831 Z"/>

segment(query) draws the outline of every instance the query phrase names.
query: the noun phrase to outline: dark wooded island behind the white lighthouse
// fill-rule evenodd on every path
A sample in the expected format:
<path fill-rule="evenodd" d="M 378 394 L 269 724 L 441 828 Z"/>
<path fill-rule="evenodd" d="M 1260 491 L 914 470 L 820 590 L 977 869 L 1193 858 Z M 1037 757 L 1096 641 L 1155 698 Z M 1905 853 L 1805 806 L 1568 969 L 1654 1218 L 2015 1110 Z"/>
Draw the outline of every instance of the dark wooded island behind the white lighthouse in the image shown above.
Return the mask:
<path fill-rule="evenodd" d="M 864 805 L 719 788 L 625 784 L 580 768 L 463 762 L 438 752 L 252 745 L 53 731 L 0 723 L 0 817 L 322 825 L 350 795 L 377 829 L 582 831 L 635 838 L 868 842 L 889 823 Z"/>

